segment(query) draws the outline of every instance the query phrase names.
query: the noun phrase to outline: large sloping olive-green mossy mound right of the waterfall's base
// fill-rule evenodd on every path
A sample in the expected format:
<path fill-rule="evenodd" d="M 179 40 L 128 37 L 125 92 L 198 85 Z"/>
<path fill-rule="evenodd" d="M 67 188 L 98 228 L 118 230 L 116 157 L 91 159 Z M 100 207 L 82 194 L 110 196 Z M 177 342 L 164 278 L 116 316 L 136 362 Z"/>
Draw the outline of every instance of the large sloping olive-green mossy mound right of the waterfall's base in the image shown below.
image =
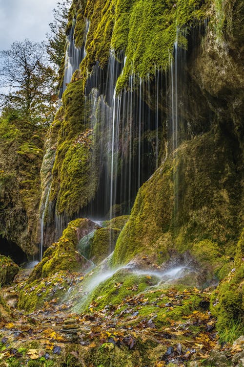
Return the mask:
<path fill-rule="evenodd" d="M 224 136 L 211 132 L 184 142 L 140 188 L 117 241 L 114 265 L 139 254 L 162 263 L 168 250 L 190 251 L 218 272 L 236 250 L 239 183 Z"/>

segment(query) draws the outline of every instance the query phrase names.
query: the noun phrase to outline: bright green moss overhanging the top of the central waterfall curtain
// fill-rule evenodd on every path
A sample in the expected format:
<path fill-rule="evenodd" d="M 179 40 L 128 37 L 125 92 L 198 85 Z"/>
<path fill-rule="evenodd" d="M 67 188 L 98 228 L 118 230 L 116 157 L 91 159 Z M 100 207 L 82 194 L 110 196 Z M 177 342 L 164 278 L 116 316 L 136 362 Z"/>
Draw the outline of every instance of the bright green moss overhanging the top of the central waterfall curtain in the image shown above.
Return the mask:
<path fill-rule="evenodd" d="M 183 25 L 194 25 L 207 17 L 208 2 L 183 0 L 155 3 L 149 0 L 88 0 L 85 17 L 90 20 L 86 42 L 87 55 L 81 63 L 84 80 L 87 71 L 98 61 L 103 68 L 110 49 L 124 51 L 126 63 L 117 83 L 117 90 L 127 86 L 129 76 L 153 76 L 156 69 L 167 69 L 169 53 L 178 39 L 179 46 L 187 47 L 181 31 Z M 81 23 L 80 25 L 78 25 Z M 77 18 L 82 28 L 83 19 Z M 178 29 L 178 34 L 177 34 Z M 135 46 L 136 45 L 136 46 Z"/>

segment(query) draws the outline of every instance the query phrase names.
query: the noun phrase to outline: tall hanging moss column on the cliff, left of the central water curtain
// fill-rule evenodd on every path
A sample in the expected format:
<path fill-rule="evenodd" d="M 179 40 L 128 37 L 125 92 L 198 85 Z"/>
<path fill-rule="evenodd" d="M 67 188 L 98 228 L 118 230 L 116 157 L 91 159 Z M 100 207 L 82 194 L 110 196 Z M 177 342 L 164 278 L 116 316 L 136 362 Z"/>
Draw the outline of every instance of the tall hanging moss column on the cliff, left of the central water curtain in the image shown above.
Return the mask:
<path fill-rule="evenodd" d="M 81 83 L 81 80 L 70 83 L 63 93 L 64 115 L 52 171 L 50 201 L 57 201 L 57 213 L 67 216 L 86 206 L 98 185 L 98 164 L 92 152 L 93 130 L 88 129 L 89 109 L 84 110 Z"/>

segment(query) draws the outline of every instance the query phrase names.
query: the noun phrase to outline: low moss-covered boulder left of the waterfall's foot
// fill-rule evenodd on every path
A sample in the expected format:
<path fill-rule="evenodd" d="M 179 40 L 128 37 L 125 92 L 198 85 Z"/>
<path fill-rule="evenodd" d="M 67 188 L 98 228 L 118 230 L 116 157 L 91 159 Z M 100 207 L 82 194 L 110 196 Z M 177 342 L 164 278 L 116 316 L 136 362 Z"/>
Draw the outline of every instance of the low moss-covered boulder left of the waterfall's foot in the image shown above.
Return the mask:
<path fill-rule="evenodd" d="M 50 246 L 43 254 L 41 262 L 35 266 L 29 282 L 34 279 L 55 274 L 61 270 L 81 271 L 86 259 L 77 251 L 80 239 L 95 228 L 89 219 L 76 219 L 64 229 L 60 240 Z"/>

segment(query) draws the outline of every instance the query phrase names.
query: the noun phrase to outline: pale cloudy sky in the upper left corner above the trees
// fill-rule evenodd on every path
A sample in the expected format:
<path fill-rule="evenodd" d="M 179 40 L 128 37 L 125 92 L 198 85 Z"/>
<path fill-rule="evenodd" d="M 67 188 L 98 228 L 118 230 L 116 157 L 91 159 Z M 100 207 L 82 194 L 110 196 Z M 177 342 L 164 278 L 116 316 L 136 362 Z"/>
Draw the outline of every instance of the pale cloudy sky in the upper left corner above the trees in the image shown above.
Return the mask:
<path fill-rule="evenodd" d="M 58 0 L 0 0 L 0 50 L 14 41 L 45 40 Z"/>

